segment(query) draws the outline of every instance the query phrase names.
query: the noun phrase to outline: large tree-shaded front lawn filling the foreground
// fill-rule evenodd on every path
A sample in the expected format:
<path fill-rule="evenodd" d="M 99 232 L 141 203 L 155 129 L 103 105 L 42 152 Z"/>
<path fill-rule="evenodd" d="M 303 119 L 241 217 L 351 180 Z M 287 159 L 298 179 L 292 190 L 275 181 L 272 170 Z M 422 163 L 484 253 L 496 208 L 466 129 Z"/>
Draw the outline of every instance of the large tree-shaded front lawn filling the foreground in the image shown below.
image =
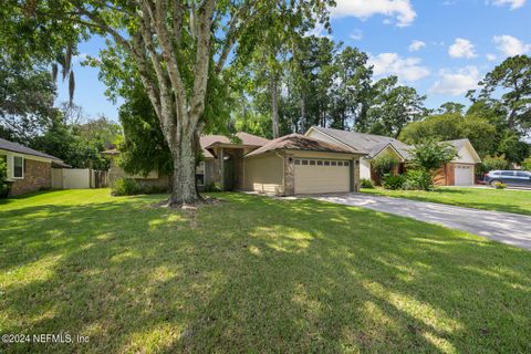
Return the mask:
<path fill-rule="evenodd" d="M 0 334 L 53 353 L 524 353 L 531 253 L 412 219 L 242 194 L 0 204 Z"/>

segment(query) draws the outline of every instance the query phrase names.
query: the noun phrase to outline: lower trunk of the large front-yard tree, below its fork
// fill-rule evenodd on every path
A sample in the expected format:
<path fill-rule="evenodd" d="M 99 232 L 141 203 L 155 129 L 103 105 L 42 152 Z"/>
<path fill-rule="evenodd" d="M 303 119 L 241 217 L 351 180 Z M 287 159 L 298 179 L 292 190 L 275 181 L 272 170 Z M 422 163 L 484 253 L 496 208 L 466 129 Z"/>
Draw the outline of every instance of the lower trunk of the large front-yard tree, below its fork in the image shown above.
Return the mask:
<path fill-rule="evenodd" d="M 183 134 L 176 148 L 171 148 L 174 157 L 174 176 L 170 207 L 194 205 L 201 200 L 196 189 L 196 148 L 194 133 Z M 180 148 L 179 148 L 180 146 Z"/>

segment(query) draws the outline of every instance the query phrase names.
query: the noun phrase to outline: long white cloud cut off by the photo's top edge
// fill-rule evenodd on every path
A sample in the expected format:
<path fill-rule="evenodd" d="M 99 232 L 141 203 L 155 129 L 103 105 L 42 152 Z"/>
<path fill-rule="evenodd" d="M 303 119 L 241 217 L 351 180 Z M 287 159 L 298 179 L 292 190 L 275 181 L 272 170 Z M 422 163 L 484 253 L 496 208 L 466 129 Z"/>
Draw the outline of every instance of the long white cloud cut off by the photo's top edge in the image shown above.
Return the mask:
<path fill-rule="evenodd" d="M 332 17 L 356 17 L 368 19 L 383 14 L 396 19 L 398 27 L 413 23 L 417 13 L 409 0 L 336 0 L 337 6 L 331 9 Z"/>

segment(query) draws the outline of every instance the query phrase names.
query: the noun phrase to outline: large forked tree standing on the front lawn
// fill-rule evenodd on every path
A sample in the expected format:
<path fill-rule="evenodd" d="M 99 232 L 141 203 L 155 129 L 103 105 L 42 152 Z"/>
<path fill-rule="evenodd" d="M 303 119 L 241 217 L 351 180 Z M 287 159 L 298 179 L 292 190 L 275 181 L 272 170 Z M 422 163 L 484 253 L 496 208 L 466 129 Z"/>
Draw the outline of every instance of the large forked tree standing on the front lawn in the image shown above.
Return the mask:
<path fill-rule="evenodd" d="M 179 206 L 200 199 L 195 167 L 209 79 L 222 77 L 231 58 L 250 52 L 261 38 L 261 20 L 287 4 L 300 18 L 326 17 L 322 0 L 10 0 L 4 13 L 19 14 L 11 20 L 27 21 L 29 32 L 73 23 L 131 58 L 171 152 L 169 204 Z"/>

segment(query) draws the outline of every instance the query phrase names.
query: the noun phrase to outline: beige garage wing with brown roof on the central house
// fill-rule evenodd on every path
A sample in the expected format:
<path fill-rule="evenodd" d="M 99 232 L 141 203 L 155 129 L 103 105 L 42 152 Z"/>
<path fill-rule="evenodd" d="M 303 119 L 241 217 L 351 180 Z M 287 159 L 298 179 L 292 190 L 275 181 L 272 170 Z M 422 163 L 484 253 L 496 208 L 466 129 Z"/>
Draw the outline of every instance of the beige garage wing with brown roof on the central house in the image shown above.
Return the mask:
<path fill-rule="evenodd" d="M 244 189 L 280 196 L 357 191 L 360 158 L 365 154 L 300 134 L 287 135 L 244 156 Z"/>

